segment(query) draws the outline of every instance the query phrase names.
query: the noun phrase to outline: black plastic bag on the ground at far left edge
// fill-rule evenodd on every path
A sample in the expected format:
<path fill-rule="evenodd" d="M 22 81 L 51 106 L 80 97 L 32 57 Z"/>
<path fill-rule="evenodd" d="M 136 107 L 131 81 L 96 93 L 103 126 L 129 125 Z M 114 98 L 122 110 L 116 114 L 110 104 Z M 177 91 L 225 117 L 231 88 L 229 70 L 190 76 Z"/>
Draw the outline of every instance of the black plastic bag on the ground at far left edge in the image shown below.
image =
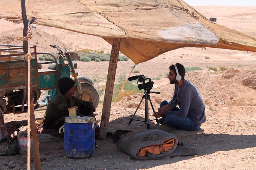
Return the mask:
<path fill-rule="evenodd" d="M 0 156 L 10 156 L 18 152 L 20 146 L 11 136 L 6 135 L 0 140 Z"/>

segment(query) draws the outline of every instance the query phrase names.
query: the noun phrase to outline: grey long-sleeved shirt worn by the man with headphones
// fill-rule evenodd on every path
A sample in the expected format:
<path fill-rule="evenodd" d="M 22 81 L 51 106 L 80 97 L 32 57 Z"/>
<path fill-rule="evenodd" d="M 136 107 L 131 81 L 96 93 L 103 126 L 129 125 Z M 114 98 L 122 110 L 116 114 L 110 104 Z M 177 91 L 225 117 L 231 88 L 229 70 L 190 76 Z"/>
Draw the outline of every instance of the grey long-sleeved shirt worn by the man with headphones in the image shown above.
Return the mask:
<path fill-rule="evenodd" d="M 197 88 L 187 80 L 178 88 L 175 86 L 174 95 L 168 104 L 170 111 L 165 111 L 164 116 L 175 114 L 181 117 L 189 117 L 195 123 L 204 123 L 206 121 L 205 105 L 203 98 Z M 180 111 L 171 111 L 176 106 Z"/>

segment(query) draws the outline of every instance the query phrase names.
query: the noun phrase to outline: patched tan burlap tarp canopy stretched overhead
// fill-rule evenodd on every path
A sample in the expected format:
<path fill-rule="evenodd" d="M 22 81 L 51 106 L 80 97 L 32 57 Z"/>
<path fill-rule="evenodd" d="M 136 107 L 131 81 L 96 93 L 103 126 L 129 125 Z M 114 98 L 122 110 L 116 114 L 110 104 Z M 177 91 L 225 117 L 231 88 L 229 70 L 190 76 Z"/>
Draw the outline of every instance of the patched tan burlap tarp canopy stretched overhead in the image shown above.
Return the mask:
<path fill-rule="evenodd" d="M 22 22 L 20 0 L 1 0 L 0 19 Z M 182 0 L 26 0 L 35 24 L 100 36 L 135 64 L 181 47 L 254 51 L 256 38 L 209 21 Z M 86 40 L 85 40 L 86 41 Z"/>

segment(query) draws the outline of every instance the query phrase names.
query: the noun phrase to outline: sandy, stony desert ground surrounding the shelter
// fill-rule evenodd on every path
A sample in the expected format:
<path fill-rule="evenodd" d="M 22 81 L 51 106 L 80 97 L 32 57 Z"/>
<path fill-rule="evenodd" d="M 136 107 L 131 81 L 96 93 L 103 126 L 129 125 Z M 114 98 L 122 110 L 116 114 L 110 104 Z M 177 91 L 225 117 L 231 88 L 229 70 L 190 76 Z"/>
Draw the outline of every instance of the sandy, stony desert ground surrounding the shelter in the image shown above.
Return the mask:
<path fill-rule="evenodd" d="M 243 33 L 256 36 L 255 19 L 256 7 L 226 7 L 207 6 L 194 7 L 207 18 L 216 17 L 217 23 L 229 28 L 237 29 Z M 21 44 L 15 36 L 22 35 L 22 25 L 7 23 L 0 20 L 0 43 Z M 7 42 L 8 41 L 8 42 Z M 37 26 L 33 30 L 31 45 L 38 45 L 39 51 L 54 52 L 49 44 L 65 46 L 70 50 L 88 48 L 94 50 L 111 51 L 111 46 L 101 38 L 78 33 L 67 32 L 54 28 Z M 209 59 L 206 59 L 209 57 Z M 167 169 L 207 169 L 207 170 L 255 170 L 256 159 L 256 54 L 244 51 L 231 51 L 222 49 L 177 49 L 167 52 L 145 63 L 138 64 L 134 70 L 148 78 L 160 77 L 153 80 L 151 101 L 154 109 L 159 101 L 172 96 L 173 86 L 166 78 L 171 64 L 181 63 L 185 67 L 200 67 L 202 70 L 190 71 L 185 79 L 191 81 L 201 92 L 206 103 L 206 123 L 195 132 L 172 130 L 179 141 L 194 146 L 198 157 L 166 157 L 159 160 L 137 160 L 116 148 L 112 138 L 96 140 L 98 147 L 91 158 L 68 158 L 64 155 L 64 141 L 42 142 L 39 144 L 42 169 L 49 170 L 167 170 Z M 118 62 L 116 80 L 120 75 L 128 76 L 132 61 Z M 211 72 L 209 67 L 225 67 L 223 72 Z M 104 85 L 107 77 L 108 62 L 78 62 L 79 73 L 94 79 L 102 78 L 98 84 Z M 95 85 L 97 87 L 97 84 Z M 98 86 L 99 87 L 99 86 Z M 104 95 L 101 96 L 101 98 Z M 143 130 L 143 122 L 132 121 L 131 116 L 142 94 L 124 97 L 120 102 L 112 103 L 108 132 L 118 129 Z M 142 102 L 135 118 L 144 119 L 144 105 Z M 97 119 L 101 118 L 102 103 L 95 113 Z M 149 107 L 149 117 L 154 119 Z M 36 112 L 36 118 L 41 119 L 44 111 Z M 5 122 L 12 120 L 26 120 L 27 114 L 5 114 Z M 155 121 L 150 121 L 150 128 L 157 128 Z M 4 170 L 25 170 L 26 154 L 9 157 L 0 157 L 0 167 Z M 33 156 L 31 155 L 31 162 Z M 31 164 L 34 169 L 34 164 Z"/>

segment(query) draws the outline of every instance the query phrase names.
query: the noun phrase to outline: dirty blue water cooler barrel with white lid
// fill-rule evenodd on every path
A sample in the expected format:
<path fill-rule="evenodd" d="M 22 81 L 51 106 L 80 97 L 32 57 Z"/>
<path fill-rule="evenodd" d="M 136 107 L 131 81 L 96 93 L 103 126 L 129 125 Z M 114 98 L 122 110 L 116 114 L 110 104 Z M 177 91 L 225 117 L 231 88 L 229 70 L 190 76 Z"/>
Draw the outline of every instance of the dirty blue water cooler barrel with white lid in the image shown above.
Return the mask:
<path fill-rule="evenodd" d="M 64 154 L 73 158 L 90 158 L 95 152 L 94 117 L 65 117 Z"/>

